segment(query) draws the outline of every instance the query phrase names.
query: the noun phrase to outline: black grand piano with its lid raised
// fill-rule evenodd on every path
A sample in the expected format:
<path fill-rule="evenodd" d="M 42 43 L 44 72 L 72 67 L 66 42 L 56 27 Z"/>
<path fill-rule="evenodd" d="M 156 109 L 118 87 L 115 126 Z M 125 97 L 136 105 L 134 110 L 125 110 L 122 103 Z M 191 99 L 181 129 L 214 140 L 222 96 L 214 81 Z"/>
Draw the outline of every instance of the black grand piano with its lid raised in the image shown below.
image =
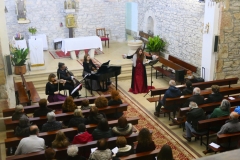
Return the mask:
<path fill-rule="evenodd" d="M 117 90 L 117 81 L 118 75 L 121 74 L 121 66 L 109 66 L 109 62 L 103 63 L 101 67 L 98 69 L 97 73 L 91 74 L 86 77 L 86 79 L 90 79 L 90 83 L 92 86 L 92 80 L 97 80 L 99 82 L 103 82 L 103 90 L 107 89 L 107 81 L 110 80 L 111 77 L 115 77 L 115 86 Z M 92 94 L 92 88 L 91 88 Z"/>

